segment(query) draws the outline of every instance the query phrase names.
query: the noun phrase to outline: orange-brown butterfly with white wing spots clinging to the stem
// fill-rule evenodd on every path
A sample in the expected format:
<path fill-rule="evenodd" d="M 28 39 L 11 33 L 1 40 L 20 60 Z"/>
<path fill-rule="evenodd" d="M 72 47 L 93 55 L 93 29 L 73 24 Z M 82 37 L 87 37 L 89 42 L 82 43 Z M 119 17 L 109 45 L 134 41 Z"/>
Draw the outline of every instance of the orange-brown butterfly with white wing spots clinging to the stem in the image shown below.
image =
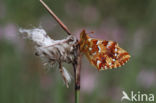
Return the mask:
<path fill-rule="evenodd" d="M 79 44 L 80 52 L 85 54 L 98 70 L 121 67 L 131 57 L 117 42 L 91 38 L 85 30 L 80 34 Z"/>

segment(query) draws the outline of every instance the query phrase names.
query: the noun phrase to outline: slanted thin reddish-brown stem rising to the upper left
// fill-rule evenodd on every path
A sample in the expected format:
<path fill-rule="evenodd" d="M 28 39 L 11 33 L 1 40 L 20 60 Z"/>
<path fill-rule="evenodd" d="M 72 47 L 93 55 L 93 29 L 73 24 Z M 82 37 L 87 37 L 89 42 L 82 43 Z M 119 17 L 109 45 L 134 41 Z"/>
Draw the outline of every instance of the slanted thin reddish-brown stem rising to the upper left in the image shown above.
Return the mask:
<path fill-rule="evenodd" d="M 68 35 L 71 35 L 71 32 L 67 28 L 67 26 L 55 15 L 55 13 L 44 3 L 44 1 L 40 0 L 42 5 L 47 9 L 50 15 L 60 24 L 60 26 L 67 32 Z"/>

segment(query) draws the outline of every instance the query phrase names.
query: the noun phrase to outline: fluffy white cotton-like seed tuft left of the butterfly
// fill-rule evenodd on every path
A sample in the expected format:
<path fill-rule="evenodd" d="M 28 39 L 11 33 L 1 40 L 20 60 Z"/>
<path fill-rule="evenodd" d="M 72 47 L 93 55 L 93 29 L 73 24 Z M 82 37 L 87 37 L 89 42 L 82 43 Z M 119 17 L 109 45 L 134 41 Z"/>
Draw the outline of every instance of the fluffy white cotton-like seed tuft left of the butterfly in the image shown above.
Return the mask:
<path fill-rule="evenodd" d="M 40 56 L 44 64 L 53 66 L 54 64 L 62 65 L 65 63 L 73 63 L 75 60 L 77 40 L 73 36 L 66 39 L 53 40 L 44 29 L 19 29 L 20 33 L 26 33 L 27 37 L 35 43 L 36 55 Z M 62 66 L 62 77 L 68 87 L 71 77 L 67 70 Z"/>

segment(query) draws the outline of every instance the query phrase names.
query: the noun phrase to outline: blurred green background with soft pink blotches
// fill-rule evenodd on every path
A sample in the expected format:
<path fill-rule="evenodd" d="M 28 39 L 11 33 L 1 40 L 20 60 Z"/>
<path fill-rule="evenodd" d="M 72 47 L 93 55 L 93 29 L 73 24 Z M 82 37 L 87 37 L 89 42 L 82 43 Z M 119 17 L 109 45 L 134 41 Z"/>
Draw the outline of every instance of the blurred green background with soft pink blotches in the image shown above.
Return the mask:
<path fill-rule="evenodd" d="M 121 102 L 123 90 L 156 95 L 156 0 L 44 1 L 77 37 L 82 29 L 94 31 L 91 37 L 117 41 L 132 56 L 102 72 L 84 57 L 81 103 L 132 103 Z M 32 42 L 18 33 L 40 26 L 54 39 L 67 36 L 39 0 L 0 0 L 0 103 L 74 102 L 74 83 L 67 89 L 57 67 L 45 72 Z"/>

